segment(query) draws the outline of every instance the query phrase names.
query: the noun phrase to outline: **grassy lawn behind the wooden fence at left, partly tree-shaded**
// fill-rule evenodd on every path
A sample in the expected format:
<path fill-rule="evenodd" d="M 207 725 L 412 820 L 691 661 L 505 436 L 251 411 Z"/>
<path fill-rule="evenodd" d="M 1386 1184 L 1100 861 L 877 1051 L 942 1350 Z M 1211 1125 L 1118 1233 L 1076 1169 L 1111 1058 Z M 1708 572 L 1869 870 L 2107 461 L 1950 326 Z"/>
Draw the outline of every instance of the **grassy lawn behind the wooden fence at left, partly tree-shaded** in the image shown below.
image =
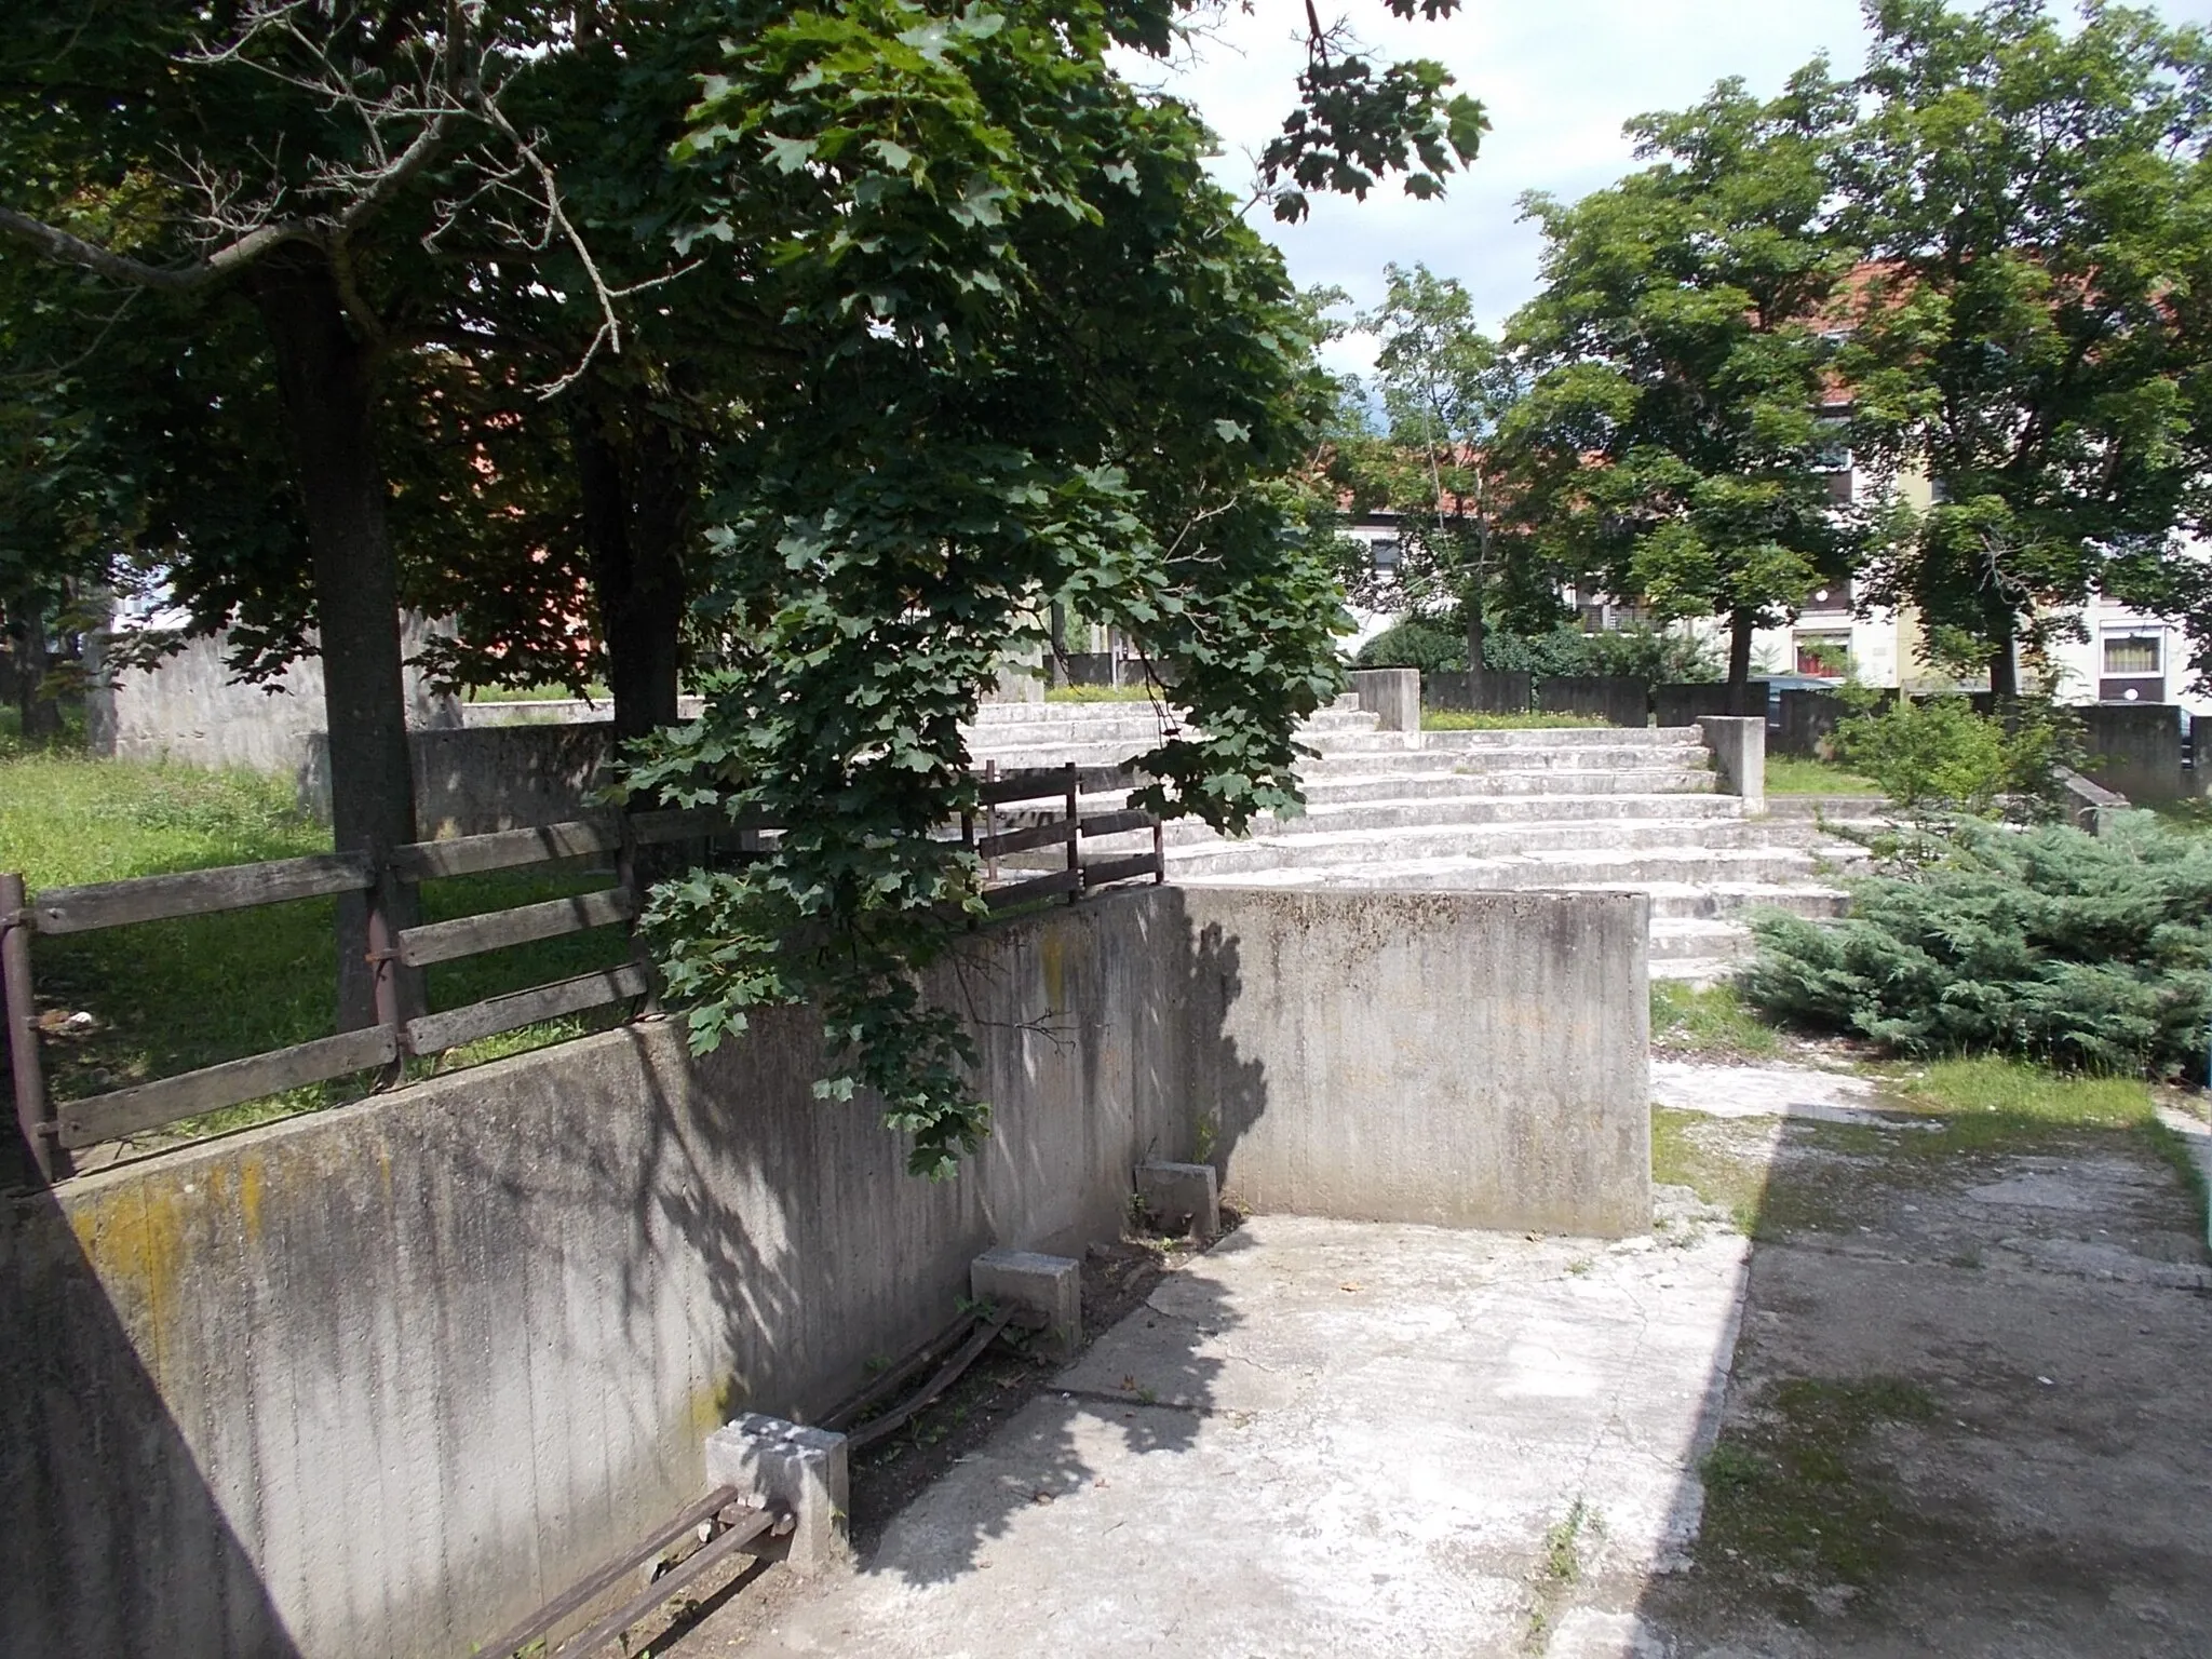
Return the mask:
<path fill-rule="evenodd" d="M 294 858 L 330 849 L 292 790 L 252 772 L 97 761 L 82 754 L 0 757 L 0 869 L 35 894 L 177 869 Z M 611 885 L 606 872 L 493 872 L 431 883 L 425 920 L 507 909 Z M 573 933 L 429 969 L 431 1009 L 626 960 L 619 929 Z M 334 902 L 263 905 L 219 916 L 142 922 L 42 938 L 33 949 L 42 1011 L 88 1013 L 84 1035 L 46 1044 L 49 1086 L 71 1099 L 219 1060 L 281 1048 L 332 1031 Z M 624 1009 L 555 1020 L 411 1062 L 414 1075 L 478 1064 L 613 1024 Z M 199 1135 L 356 1099 L 363 1077 L 290 1091 L 164 1130 Z"/>

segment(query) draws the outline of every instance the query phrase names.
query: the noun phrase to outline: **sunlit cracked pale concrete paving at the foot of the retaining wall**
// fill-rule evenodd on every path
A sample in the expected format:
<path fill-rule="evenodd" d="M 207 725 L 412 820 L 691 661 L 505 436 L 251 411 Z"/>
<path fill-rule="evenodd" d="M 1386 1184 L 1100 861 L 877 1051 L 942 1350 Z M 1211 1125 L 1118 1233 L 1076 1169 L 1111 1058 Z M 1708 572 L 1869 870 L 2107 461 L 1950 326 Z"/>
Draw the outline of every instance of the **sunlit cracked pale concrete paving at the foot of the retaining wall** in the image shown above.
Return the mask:
<path fill-rule="evenodd" d="M 750 1652 L 1520 1652 L 1577 1500 L 1586 1582 L 1694 1531 L 1745 1241 L 1670 1232 L 1254 1219 Z"/>

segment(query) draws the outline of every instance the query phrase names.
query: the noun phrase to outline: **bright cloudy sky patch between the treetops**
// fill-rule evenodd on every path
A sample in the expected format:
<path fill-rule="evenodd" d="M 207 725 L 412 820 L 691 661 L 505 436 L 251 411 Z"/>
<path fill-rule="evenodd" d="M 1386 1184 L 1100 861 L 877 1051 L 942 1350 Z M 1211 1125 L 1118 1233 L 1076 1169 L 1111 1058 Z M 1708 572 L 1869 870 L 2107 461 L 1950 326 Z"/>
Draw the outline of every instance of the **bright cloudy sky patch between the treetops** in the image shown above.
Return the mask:
<path fill-rule="evenodd" d="M 2212 0 L 2154 9 L 2168 22 L 2212 22 Z M 1166 71 L 1133 58 L 1124 69 L 1197 106 L 1223 142 L 1217 177 L 1245 195 L 1250 157 L 1294 97 L 1305 7 L 1252 0 L 1252 15 L 1230 11 L 1197 58 Z M 1458 91 L 1486 104 L 1491 131 L 1442 201 L 1416 201 L 1385 181 L 1367 201 L 1312 197 L 1312 217 L 1298 226 L 1279 226 L 1265 206 L 1252 223 L 1283 250 L 1301 288 L 1332 283 L 1374 305 L 1385 265 L 1425 263 L 1458 276 L 1493 330 L 1535 292 L 1542 239 L 1520 219 L 1522 192 L 1573 201 L 1610 184 L 1637 166 L 1621 137 L 1626 119 L 1686 108 L 1725 75 L 1772 95 L 1814 53 L 1825 51 L 1838 75 L 1865 60 L 1858 0 L 1464 0 L 1444 22 L 1398 22 L 1383 0 L 1321 0 L 1321 15 L 1347 18 L 1380 60 L 1442 62 Z M 1325 356 L 1338 372 L 1367 372 L 1374 341 L 1354 334 Z"/>

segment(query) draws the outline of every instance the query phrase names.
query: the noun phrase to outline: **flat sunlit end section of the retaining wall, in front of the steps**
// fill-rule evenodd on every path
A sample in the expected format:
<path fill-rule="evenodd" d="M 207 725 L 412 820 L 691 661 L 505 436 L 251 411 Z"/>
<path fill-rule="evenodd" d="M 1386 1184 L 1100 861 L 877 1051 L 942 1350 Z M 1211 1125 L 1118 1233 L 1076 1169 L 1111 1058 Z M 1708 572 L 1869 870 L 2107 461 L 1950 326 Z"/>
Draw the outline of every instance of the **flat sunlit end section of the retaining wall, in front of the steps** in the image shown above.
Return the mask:
<path fill-rule="evenodd" d="M 1648 898 L 1192 887 L 1183 905 L 1210 967 L 1181 1002 L 1183 1075 L 1252 1210 L 1650 1225 Z"/>

